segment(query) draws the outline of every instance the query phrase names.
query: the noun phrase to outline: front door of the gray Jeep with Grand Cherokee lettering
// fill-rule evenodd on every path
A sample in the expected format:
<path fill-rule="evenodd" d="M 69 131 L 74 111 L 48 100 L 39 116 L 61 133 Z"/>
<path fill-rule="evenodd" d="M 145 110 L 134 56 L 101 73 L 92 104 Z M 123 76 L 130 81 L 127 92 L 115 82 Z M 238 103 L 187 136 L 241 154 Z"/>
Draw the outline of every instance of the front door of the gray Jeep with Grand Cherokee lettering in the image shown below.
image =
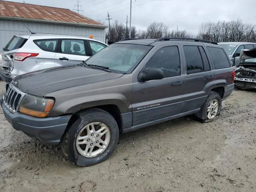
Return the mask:
<path fill-rule="evenodd" d="M 162 69 L 164 78 L 134 84 L 133 126 L 180 114 L 184 105 L 185 78 L 178 46 L 160 48 L 144 70 L 147 68 Z"/>

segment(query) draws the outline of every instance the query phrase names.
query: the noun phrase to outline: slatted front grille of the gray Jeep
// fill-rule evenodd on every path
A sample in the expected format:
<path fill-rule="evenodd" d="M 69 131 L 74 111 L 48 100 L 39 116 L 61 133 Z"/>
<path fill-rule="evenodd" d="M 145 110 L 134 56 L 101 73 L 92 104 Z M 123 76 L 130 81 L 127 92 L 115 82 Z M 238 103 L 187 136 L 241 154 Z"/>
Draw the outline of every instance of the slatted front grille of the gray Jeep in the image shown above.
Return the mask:
<path fill-rule="evenodd" d="M 6 84 L 6 93 L 3 96 L 4 105 L 13 113 L 18 111 L 19 104 L 26 93 L 18 90 L 12 84 Z"/>

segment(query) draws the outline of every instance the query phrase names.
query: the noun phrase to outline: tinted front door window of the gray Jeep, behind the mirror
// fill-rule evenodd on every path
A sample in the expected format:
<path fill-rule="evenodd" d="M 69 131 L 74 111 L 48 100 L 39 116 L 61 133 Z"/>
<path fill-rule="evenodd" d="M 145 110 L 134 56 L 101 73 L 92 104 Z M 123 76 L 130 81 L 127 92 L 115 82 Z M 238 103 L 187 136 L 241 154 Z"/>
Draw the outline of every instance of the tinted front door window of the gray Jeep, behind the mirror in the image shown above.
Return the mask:
<path fill-rule="evenodd" d="M 160 48 L 145 66 L 148 68 L 160 68 L 164 72 L 164 78 L 180 75 L 180 54 L 177 46 Z"/>

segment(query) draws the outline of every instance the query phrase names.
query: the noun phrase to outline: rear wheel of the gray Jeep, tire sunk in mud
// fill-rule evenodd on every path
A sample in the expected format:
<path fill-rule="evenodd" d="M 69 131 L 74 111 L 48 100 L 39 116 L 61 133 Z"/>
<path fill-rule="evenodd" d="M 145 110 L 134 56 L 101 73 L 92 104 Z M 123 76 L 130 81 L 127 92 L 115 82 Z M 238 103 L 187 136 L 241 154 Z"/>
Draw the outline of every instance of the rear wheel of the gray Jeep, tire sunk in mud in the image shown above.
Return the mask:
<path fill-rule="evenodd" d="M 222 101 L 220 94 L 211 91 L 200 111 L 196 113 L 195 116 L 201 122 L 212 122 L 219 118 L 221 106 Z"/>

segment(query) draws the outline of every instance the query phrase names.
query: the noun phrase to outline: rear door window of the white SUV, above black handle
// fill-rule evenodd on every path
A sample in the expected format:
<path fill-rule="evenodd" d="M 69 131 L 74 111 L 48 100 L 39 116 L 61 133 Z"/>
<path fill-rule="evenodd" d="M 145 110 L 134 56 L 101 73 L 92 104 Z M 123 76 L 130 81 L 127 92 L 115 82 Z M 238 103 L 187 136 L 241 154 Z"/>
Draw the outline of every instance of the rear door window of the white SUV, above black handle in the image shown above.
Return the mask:
<path fill-rule="evenodd" d="M 72 55 L 86 55 L 84 40 L 63 39 L 61 40 L 61 53 Z"/>

